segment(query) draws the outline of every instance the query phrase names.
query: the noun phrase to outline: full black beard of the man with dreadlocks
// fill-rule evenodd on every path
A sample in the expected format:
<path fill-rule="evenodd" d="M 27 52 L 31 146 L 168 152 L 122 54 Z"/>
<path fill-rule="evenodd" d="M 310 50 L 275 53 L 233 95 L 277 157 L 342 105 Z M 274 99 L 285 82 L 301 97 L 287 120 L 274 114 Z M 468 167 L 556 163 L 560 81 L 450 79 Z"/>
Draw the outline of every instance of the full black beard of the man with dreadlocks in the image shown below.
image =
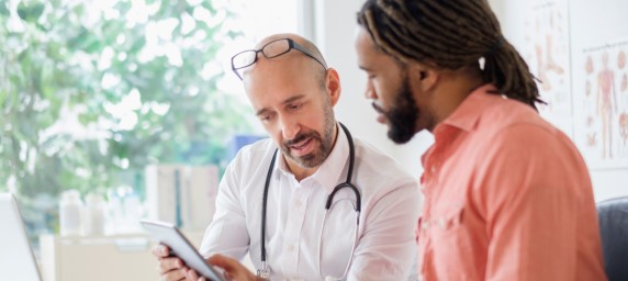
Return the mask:
<path fill-rule="evenodd" d="M 410 81 L 407 77 L 403 79 L 401 88 L 397 90 L 392 108 L 384 111 L 372 103 L 375 111 L 382 113 L 389 123 L 388 136 L 396 144 L 405 144 L 412 139 L 415 134 L 416 121 L 419 115 L 418 106 L 412 97 Z"/>

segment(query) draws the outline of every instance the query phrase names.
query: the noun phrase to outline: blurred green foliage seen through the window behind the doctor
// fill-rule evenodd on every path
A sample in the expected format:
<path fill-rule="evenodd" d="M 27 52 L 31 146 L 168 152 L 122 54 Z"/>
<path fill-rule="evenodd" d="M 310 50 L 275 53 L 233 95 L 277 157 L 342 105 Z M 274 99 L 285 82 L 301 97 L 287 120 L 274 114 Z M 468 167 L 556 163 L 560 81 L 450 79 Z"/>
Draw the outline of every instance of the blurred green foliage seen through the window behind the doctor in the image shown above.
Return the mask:
<path fill-rule="evenodd" d="M 224 166 L 227 139 L 250 130 L 211 69 L 237 32 L 193 16 L 217 14 L 212 1 L 0 1 L 0 191 L 56 198 L 152 162 Z"/>

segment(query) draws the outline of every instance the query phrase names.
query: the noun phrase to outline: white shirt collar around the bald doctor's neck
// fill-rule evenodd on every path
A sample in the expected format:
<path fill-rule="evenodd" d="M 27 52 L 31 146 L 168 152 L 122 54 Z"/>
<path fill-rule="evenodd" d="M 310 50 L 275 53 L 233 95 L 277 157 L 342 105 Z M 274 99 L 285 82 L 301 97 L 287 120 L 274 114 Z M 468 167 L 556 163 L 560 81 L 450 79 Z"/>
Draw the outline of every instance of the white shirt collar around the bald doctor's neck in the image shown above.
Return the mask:
<path fill-rule="evenodd" d="M 317 182 L 318 184 L 323 186 L 327 193 L 334 191 L 334 188 L 337 186 L 337 182 L 340 180 L 344 182 L 346 178 L 345 167 L 348 164 L 349 158 L 349 140 L 345 131 L 336 124 L 338 130 L 338 135 L 336 137 L 336 143 L 332 148 L 332 151 L 323 161 L 321 167 L 314 172 L 312 176 L 303 179 L 301 181 L 301 186 L 307 184 L 310 181 Z M 281 151 L 279 151 L 281 153 Z M 281 155 L 278 155 L 280 157 Z M 279 168 L 284 176 L 291 177 L 294 180 L 294 175 L 290 172 L 288 168 L 288 164 L 285 162 L 285 158 L 280 157 L 279 160 Z M 343 177 L 343 179 L 340 179 Z M 313 183 L 312 183 L 313 184 Z"/>

